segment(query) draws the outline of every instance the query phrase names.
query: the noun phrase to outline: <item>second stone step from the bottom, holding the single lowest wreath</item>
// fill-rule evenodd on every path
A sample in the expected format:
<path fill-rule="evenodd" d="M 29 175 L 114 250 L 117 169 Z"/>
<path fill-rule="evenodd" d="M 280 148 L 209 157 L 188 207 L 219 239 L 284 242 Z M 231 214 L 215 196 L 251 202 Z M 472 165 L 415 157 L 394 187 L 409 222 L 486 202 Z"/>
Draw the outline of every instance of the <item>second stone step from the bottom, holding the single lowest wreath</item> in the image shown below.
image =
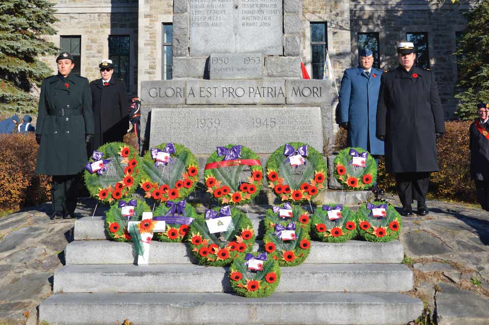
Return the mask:
<path fill-rule="evenodd" d="M 400 292 L 413 287 L 403 264 L 302 264 L 282 267 L 277 292 Z M 66 265 L 55 293 L 231 292 L 228 268 L 190 264 Z"/>

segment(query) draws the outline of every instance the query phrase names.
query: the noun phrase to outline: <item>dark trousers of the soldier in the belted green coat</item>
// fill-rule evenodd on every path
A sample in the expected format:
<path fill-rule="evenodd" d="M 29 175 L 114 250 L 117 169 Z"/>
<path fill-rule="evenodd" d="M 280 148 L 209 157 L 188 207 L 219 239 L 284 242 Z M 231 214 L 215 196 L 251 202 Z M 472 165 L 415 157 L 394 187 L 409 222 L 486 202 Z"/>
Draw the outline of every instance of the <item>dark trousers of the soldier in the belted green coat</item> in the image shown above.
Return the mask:
<path fill-rule="evenodd" d="M 80 174 L 53 175 L 53 180 L 51 182 L 53 212 L 75 212 L 76 201 L 78 200 L 79 179 Z"/>

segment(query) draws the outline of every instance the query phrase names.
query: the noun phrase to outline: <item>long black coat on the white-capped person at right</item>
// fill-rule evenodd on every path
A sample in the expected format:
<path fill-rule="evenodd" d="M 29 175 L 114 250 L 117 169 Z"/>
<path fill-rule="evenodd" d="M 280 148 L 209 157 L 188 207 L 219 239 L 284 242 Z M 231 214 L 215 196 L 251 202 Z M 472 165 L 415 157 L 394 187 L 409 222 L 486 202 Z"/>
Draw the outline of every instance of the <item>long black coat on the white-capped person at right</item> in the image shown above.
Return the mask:
<path fill-rule="evenodd" d="M 433 73 L 401 66 L 383 73 L 377 136 L 385 136 L 387 172 L 438 172 L 435 133 L 445 133 L 445 121 Z"/>

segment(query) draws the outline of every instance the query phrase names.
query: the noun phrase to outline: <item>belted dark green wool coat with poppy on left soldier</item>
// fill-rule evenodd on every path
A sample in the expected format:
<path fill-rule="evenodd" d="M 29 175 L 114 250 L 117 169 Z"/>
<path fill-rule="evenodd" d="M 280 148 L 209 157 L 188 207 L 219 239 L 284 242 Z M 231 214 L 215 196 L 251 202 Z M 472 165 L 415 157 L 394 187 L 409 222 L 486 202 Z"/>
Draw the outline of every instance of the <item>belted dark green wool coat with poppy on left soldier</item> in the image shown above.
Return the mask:
<path fill-rule="evenodd" d="M 77 109 L 82 114 L 68 115 Z M 67 78 L 58 74 L 44 79 L 36 125 L 36 134 L 42 135 L 36 173 L 74 175 L 82 171 L 88 161 L 85 135 L 93 134 L 93 129 L 88 79 L 73 73 Z"/>

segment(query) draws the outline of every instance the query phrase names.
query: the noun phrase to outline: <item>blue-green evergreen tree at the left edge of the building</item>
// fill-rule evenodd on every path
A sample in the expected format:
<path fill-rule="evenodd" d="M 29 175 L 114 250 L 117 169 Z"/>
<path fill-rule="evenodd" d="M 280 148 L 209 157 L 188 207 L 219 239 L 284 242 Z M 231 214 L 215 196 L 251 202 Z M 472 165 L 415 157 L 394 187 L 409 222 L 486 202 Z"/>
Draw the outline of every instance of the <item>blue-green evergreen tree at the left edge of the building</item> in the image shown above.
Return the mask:
<path fill-rule="evenodd" d="M 58 49 L 43 35 L 54 35 L 50 24 L 54 3 L 47 0 L 0 1 L 0 112 L 26 113 L 37 109 L 38 98 L 29 94 L 34 85 L 52 73 L 38 56 Z"/>

